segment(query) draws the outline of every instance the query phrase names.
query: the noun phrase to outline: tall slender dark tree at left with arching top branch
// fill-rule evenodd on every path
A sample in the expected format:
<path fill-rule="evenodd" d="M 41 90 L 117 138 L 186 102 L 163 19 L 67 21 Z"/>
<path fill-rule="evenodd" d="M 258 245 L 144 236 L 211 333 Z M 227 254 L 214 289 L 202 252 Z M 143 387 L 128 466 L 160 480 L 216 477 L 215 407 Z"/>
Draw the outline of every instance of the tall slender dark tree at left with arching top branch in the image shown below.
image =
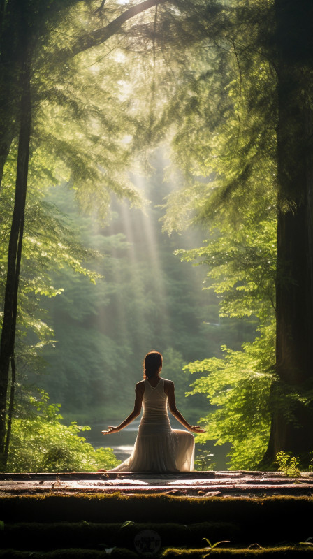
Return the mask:
<path fill-rule="evenodd" d="M 162 3 L 164 0 L 145 0 L 117 15 L 112 22 L 90 31 L 85 36 L 76 37 L 75 44 L 57 56 L 58 63 L 73 57 L 96 45 L 101 45 L 116 34 L 122 24 L 143 11 Z M 1 64 L 1 110 L 0 136 L 0 180 L 13 138 L 18 135 L 18 157 L 10 242 L 8 249 L 7 280 L 4 296 L 3 327 L 0 351 L 0 463 L 5 461 L 3 452 L 6 445 L 6 400 L 10 360 L 14 359 L 15 326 L 17 314 L 17 292 L 22 256 L 24 213 L 27 194 L 29 146 L 31 143 L 31 80 L 36 63 L 35 52 L 42 46 L 48 34 L 48 27 L 59 20 L 64 9 L 77 3 L 29 2 L 10 0 L 1 5 L 0 64 Z M 120 9 L 120 8 L 119 8 Z M 123 8 L 122 8 L 123 9 Z M 40 60 L 40 57 L 38 57 Z M 43 57 L 41 57 L 43 60 Z M 38 66 L 36 68 L 38 70 Z M 13 370 L 15 366 L 13 364 Z M 14 382 L 13 382 L 14 384 Z"/>

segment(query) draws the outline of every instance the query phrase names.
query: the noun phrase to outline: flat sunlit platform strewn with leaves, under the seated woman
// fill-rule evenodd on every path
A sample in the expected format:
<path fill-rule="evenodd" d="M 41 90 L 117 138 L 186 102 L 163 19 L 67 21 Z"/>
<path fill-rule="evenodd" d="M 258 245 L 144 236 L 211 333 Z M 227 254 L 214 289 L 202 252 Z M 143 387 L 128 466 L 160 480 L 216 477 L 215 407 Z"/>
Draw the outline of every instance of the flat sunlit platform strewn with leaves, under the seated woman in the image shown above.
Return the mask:
<path fill-rule="evenodd" d="M 177 472 L 173 474 L 28 473 L 0 474 L 0 496 L 80 493 L 166 493 L 189 497 L 264 498 L 313 496 L 313 473 L 286 477 L 280 472 Z"/>

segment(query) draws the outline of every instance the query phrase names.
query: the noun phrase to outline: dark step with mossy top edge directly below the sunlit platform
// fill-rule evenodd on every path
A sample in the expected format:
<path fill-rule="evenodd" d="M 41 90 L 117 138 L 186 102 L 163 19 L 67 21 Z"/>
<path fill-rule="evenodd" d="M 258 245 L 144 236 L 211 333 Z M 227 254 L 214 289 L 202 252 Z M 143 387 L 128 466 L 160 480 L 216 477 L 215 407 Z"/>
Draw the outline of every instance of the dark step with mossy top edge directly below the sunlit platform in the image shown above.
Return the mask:
<path fill-rule="evenodd" d="M 202 521 L 245 521 L 257 523 L 264 516 L 297 519 L 313 513 L 313 498 L 184 498 L 172 495 L 36 495 L 0 499 L 0 518 L 13 521 L 92 521 L 188 523 Z"/>

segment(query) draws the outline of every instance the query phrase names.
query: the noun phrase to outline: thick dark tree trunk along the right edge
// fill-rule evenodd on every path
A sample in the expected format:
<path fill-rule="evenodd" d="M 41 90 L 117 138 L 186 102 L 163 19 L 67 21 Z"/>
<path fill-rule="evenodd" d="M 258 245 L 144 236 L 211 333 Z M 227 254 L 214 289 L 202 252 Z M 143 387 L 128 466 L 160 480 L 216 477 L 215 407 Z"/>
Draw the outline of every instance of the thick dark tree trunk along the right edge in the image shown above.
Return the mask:
<path fill-rule="evenodd" d="M 278 451 L 309 463 L 313 451 L 312 0 L 276 0 L 277 15 L 277 379 L 263 465 Z"/>

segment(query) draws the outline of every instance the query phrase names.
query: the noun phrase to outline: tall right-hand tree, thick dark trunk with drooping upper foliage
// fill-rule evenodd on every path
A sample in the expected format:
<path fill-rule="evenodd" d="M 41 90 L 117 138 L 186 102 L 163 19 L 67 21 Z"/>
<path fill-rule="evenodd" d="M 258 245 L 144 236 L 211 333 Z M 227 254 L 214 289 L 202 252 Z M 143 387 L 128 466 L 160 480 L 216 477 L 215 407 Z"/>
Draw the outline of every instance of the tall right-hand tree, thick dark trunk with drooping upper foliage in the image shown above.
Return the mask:
<path fill-rule="evenodd" d="M 259 225 L 266 212 L 272 219 L 277 208 L 276 302 L 271 297 L 277 324 L 275 374 L 270 441 L 261 463 L 272 464 L 277 451 L 284 450 L 301 454 L 307 465 L 313 449 L 312 2 L 229 2 L 222 15 L 208 28 L 212 54 L 206 71 L 203 64 L 202 72 L 191 69 L 184 96 L 180 80 L 177 99 L 183 108 L 175 148 L 190 186 L 173 196 L 168 224 L 176 226 L 189 209 L 207 224 L 221 219 L 222 230 L 225 219 L 244 228 L 245 204 L 256 209 L 260 203 L 254 217 Z M 204 21 L 208 25 L 205 15 Z M 190 150 L 186 137 L 193 140 Z M 201 173 L 207 185 L 197 182 Z M 277 203 L 268 204 L 268 186 L 277 193 Z M 184 201 L 179 210 L 178 197 Z M 247 238 L 249 228 L 254 229 L 248 224 Z M 229 242 L 224 249 L 227 276 Z M 210 247 L 205 252 L 204 261 L 213 270 L 221 265 L 210 260 Z M 240 278 L 239 270 L 231 274 L 228 288 L 235 300 L 247 277 Z M 227 279 L 221 292 L 226 284 Z"/>

